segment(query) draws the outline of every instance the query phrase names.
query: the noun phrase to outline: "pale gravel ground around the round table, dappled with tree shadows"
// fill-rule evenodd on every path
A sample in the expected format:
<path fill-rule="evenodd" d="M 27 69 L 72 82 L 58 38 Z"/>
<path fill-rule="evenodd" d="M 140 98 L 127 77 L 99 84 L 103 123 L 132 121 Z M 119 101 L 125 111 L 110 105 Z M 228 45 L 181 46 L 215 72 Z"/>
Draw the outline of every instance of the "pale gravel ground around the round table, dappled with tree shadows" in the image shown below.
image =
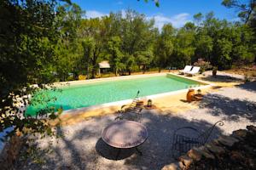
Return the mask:
<path fill-rule="evenodd" d="M 160 169 L 170 164 L 172 158 L 172 134 L 178 127 L 191 126 L 201 131 L 211 127 L 218 120 L 224 121 L 211 136 L 256 125 L 256 82 L 236 88 L 220 88 L 218 92 L 207 94 L 201 108 L 178 114 L 160 114 L 157 111 L 143 111 L 142 123 L 148 128 L 148 140 L 136 150 L 122 150 L 119 160 L 114 158 L 117 150 L 109 147 L 101 139 L 102 128 L 113 122 L 114 116 L 103 116 L 80 122 L 73 126 L 61 127 L 60 139 L 38 140 L 42 148 L 53 151 L 44 155 L 46 163 L 27 161 L 19 169 Z M 52 144 L 49 145 L 49 141 Z M 17 168 L 18 168 L 17 167 Z"/>

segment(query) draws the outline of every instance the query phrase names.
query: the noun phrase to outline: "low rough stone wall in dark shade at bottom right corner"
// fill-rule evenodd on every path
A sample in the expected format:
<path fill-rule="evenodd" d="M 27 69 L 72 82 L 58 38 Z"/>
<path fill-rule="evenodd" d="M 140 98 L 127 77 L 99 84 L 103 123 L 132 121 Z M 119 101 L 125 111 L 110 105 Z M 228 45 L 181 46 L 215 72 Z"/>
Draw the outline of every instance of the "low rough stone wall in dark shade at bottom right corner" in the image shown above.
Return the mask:
<path fill-rule="evenodd" d="M 256 127 L 234 131 L 189 150 L 162 170 L 256 169 Z"/>

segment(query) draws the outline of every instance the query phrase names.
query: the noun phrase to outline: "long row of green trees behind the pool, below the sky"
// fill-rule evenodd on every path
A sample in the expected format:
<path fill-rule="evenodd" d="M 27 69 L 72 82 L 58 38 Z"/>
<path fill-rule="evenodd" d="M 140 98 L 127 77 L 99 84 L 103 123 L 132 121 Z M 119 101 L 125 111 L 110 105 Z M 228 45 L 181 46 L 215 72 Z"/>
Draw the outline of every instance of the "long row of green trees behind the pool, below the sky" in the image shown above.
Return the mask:
<path fill-rule="evenodd" d="M 180 29 L 166 25 L 160 32 L 154 28 L 154 20 L 147 20 L 143 14 L 131 9 L 125 14 L 119 12 L 97 19 L 81 19 L 80 24 L 74 26 L 77 31 L 72 31 L 77 33 L 75 43 L 70 40 L 65 42 L 66 51 L 64 48 L 62 54 L 56 55 L 63 58 L 56 57 L 60 80 L 66 80 L 69 72 L 75 75 L 87 73 L 88 78 L 96 77 L 97 63 L 105 59 L 109 60 L 110 70 L 115 75 L 130 74 L 131 71 L 139 71 L 138 68 L 143 72 L 152 67 L 158 67 L 159 71 L 166 67 L 182 68 L 197 59 L 219 65 L 220 69 L 230 68 L 239 62 L 253 62 L 254 35 L 248 26 L 218 20 L 212 12 L 205 15 L 198 13 L 194 18 L 195 23 L 188 22 Z M 82 45 L 88 38 L 93 38 L 96 44 L 87 46 L 96 52 L 90 57 L 86 56 Z M 228 42 L 226 46 L 223 38 Z M 61 66 L 61 61 L 67 66 Z"/>

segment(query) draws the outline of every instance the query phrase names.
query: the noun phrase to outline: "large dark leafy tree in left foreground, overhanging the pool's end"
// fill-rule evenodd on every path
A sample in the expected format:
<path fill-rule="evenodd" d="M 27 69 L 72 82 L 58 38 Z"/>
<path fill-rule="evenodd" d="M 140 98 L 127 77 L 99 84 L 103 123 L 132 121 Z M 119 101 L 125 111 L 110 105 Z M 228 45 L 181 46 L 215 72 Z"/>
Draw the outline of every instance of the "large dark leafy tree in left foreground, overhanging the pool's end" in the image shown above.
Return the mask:
<path fill-rule="evenodd" d="M 0 3 L 1 132 L 13 127 L 9 135 L 17 131 L 52 133 L 46 120 L 26 116 L 24 107 L 29 103 L 29 94 L 55 81 L 52 56 L 60 37 L 56 6 L 55 0 Z M 38 88 L 32 84 L 38 84 Z M 46 108 L 38 114 L 55 118 L 54 112 Z"/>

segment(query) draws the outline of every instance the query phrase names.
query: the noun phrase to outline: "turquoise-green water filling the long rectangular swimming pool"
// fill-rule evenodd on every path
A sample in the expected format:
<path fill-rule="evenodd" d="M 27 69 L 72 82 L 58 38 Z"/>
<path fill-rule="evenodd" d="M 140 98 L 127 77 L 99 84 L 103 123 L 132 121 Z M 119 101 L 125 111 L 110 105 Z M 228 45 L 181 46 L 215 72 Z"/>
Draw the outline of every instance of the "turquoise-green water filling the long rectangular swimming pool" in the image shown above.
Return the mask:
<path fill-rule="evenodd" d="M 35 94 L 32 98 L 33 105 L 29 105 L 26 115 L 36 115 L 38 111 L 46 106 L 60 108 L 63 110 L 100 105 L 114 101 L 133 99 L 140 91 L 139 96 L 162 94 L 189 88 L 189 86 L 200 86 L 199 82 L 175 76 L 152 76 L 134 77 L 131 79 L 119 79 L 103 82 L 92 82 L 89 84 L 79 84 L 64 86 L 60 90 L 47 90 Z M 36 104 L 37 99 L 55 98 Z"/>

